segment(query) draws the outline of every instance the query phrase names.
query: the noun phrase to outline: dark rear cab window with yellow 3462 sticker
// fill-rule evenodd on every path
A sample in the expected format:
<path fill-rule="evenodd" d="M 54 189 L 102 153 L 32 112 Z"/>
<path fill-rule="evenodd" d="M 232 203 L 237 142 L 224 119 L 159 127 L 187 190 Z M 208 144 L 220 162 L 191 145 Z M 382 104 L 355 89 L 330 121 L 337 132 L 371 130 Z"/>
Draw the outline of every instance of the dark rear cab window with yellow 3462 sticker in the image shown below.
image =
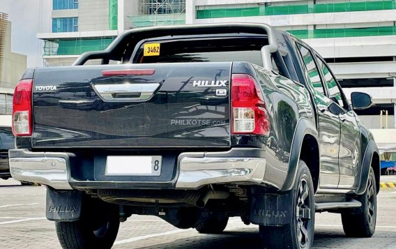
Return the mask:
<path fill-rule="evenodd" d="M 160 54 L 144 56 L 148 43 L 160 43 Z M 140 45 L 133 63 L 248 61 L 262 66 L 260 50 L 267 44 L 265 37 L 148 41 Z"/>

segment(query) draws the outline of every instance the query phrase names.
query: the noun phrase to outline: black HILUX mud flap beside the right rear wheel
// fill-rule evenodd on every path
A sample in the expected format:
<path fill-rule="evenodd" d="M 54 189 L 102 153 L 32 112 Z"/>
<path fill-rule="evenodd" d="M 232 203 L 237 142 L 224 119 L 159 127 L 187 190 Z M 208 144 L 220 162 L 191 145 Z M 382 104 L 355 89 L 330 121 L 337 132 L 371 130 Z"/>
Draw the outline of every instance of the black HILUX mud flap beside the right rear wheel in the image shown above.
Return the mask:
<path fill-rule="evenodd" d="M 250 204 L 250 222 L 264 226 L 282 226 L 291 222 L 292 198 L 286 195 L 254 194 Z"/>

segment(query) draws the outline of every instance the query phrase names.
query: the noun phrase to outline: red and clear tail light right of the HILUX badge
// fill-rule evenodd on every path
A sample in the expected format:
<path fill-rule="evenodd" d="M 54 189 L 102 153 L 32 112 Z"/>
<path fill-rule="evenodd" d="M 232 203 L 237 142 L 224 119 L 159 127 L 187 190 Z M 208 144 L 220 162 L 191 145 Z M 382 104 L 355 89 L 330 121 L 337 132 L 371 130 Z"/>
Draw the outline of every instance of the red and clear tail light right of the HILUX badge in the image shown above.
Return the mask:
<path fill-rule="evenodd" d="M 231 76 L 231 106 L 232 134 L 269 134 L 271 126 L 264 98 L 252 76 Z"/>

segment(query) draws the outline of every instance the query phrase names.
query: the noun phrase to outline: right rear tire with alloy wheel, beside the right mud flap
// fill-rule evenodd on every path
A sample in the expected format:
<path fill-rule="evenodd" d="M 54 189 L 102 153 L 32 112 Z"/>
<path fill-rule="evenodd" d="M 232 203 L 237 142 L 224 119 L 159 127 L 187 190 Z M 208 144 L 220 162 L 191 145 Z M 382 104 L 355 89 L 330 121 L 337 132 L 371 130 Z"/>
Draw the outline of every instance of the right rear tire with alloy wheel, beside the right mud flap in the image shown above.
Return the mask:
<path fill-rule="evenodd" d="M 303 160 L 298 163 L 296 181 L 291 190 L 293 199 L 291 223 L 282 227 L 260 225 L 264 248 L 311 248 L 314 241 L 314 186 L 310 169 Z M 297 213 L 297 209 L 301 212 Z"/>

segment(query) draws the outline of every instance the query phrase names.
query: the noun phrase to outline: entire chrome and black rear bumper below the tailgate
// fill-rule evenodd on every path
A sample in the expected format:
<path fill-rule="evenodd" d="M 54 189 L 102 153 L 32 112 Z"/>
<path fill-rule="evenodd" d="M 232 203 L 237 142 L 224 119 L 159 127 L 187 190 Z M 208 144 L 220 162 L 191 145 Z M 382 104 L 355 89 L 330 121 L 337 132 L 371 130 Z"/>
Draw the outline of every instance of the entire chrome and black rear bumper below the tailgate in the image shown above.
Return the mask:
<path fill-rule="evenodd" d="M 166 183 L 136 181 L 76 181 L 70 177 L 71 153 L 10 150 L 10 172 L 14 179 L 73 188 L 176 188 L 199 189 L 216 183 L 264 184 L 266 159 L 261 149 L 231 149 L 226 152 L 181 153 L 174 180 Z M 273 185 L 271 183 L 268 183 Z"/>

